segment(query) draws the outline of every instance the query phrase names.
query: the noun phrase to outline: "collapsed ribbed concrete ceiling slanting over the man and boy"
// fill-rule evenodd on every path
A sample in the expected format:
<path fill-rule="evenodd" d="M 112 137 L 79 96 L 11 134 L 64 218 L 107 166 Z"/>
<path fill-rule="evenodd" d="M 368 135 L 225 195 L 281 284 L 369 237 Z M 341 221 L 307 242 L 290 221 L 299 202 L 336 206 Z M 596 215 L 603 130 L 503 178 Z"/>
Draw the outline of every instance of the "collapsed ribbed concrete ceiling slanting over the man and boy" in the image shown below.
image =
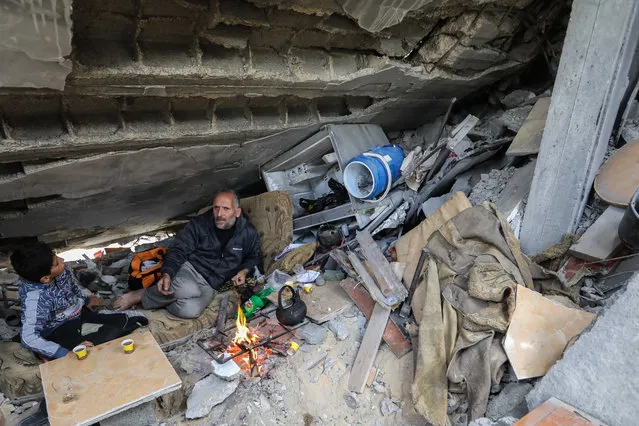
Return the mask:
<path fill-rule="evenodd" d="M 0 247 L 173 223 L 258 181 L 322 124 L 417 127 L 524 69 L 567 13 L 542 0 L 374 3 L 84 0 L 69 15 L 44 2 L 58 30 L 72 20 L 72 67 L 59 91 L 0 83 Z"/>

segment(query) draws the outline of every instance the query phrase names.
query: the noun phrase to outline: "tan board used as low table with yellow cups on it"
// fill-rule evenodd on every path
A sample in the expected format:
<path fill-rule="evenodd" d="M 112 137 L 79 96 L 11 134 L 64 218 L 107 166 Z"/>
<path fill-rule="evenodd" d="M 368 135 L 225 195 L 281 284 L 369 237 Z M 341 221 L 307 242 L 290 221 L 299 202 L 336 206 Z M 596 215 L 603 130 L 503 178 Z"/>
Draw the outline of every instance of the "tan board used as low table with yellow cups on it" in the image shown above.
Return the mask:
<path fill-rule="evenodd" d="M 51 426 L 91 425 L 180 388 L 182 381 L 151 332 L 140 329 L 128 337 L 135 340 L 131 354 L 120 347 L 123 337 L 96 346 L 82 361 L 65 356 L 40 364 Z M 67 403 L 54 389 L 64 380 L 75 394 Z"/>

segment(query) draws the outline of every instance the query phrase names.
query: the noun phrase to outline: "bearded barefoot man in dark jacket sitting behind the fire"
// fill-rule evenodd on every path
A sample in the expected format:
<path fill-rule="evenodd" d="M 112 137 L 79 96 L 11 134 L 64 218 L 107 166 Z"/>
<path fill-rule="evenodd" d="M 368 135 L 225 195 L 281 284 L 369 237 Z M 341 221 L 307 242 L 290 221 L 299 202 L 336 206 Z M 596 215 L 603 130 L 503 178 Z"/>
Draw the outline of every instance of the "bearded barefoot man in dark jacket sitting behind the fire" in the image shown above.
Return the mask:
<path fill-rule="evenodd" d="M 225 281 L 244 284 L 261 258 L 257 231 L 235 192 L 224 190 L 215 196 L 213 213 L 193 218 L 176 238 L 157 284 L 124 294 L 114 306 L 123 310 L 142 302 L 144 309 L 166 307 L 177 317 L 197 318 Z"/>

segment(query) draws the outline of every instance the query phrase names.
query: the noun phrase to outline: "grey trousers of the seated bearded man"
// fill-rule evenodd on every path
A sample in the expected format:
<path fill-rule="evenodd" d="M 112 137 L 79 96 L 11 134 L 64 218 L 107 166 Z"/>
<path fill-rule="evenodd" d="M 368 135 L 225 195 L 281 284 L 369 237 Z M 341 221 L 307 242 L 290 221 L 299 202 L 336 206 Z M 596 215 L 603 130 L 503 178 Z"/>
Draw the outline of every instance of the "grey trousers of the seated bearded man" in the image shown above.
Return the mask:
<path fill-rule="evenodd" d="M 197 318 L 216 294 L 190 262 L 184 262 L 171 280 L 170 289 L 173 294 L 164 296 L 158 291 L 157 285 L 147 288 L 142 295 L 144 309 L 166 307 L 166 310 L 176 317 Z"/>

